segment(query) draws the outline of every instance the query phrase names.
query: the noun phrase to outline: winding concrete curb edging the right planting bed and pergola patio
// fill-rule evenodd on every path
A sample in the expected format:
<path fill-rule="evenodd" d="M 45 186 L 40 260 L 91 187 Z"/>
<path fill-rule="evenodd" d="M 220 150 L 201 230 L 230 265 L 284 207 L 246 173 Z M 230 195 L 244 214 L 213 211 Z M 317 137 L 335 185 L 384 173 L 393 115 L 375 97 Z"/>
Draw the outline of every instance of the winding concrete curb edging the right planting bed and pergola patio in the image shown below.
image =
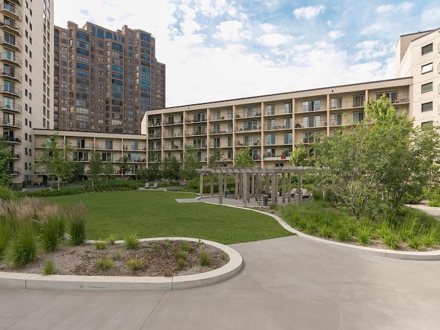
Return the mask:
<path fill-rule="evenodd" d="M 203 197 L 202 197 L 203 198 Z M 203 203 L 209 203 L 213 205 L 219 205 L 217 203 L 210 203 L 210 202 L 203 202 Z M 377 248 L 367 248 L 364 246 L 359 245 L 351 245 L 351 244 L 345 244 L 335 241 L 329 241 L 327 239 L 320 239 L 319 237 L 311 236 L 304 234 L 303 232 L 299 232 L 298 230 L 292 228 L 290 225 L 288 225 L 283 219 L 278 217 L 275 214 L 270 214 L 267 212 L 263 212 L 260 210 L 254 210 L 252 208 L 244 208 L 243 206 L 235 206 L 235 205 L 228 205 L 228 204 L 221 204 L 222 206 L 229 206 L 231 208 L 241 208 L 243 210 L 250 210 L 254 212 L 259 212 L 261 214 L 269 215 L 270 217 L 274 218 L 278 223 L 285 228 L 285 230 L 292 232 L 294 234 L 297 234 L 300 237 L 303 237 L 305 239 L 310 239 L 312 241 L 317 241 L 320 243 L 326 243 L 331 245 L 337 245 L 342 248 L 350 248 L 357 250 L 358 252 L 365 253 L 365 254 L 372 254 L 375 256 L 383 256 L 385 258 L 393 258 L 393 259 L 404 259 L 404 260 L 419 260 L 419 261 L 438 261 L 440 260 L 440 250 L 435 251 L 428 251 L 428 252 L 412 252 L 412 251 L 395 251 L 395 250 L 386 250 L 386 249 L 377 249 Z"/>

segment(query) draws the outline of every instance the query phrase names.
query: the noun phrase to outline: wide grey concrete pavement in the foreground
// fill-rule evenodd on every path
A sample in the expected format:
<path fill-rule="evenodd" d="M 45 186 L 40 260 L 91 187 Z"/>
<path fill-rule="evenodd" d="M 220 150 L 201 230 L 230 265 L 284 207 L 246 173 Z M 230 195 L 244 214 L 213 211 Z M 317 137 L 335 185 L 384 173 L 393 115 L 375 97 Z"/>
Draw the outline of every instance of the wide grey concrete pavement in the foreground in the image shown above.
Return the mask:
<path fill-rule="evenodd" d="M 0 289 L 0 329 L 440 329 L 440 261 L 299 236 L 231 245 L 228 281 L 157 292 Z"/>

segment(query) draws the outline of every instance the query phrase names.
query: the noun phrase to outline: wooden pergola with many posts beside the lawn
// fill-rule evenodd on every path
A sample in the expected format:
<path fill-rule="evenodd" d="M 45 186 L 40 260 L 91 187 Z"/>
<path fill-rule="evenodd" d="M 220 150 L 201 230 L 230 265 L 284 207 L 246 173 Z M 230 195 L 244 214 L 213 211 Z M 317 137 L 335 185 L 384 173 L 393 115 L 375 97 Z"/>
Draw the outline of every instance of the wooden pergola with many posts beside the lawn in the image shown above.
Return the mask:
<path fill-rule="evenodd" d="M 200 196 L 203 197 L 203 175 L 210 176 L 210 195 L 214 196 L 214 175 L 219 176 L 219 204 L 223 203 L 223 194 L 228 194 L 227 180 L 228 175 L 235 178 L 234 199 L 242 199 L 246 204 L 251 198 L 259 204 L 264 201 L 268 195 L 272 195 L 272 203 L 290 203 L 292 196 L 292 173 L 298 174 L 298 197 L 299 202 L 303 200 L 301 194 L 303 188 L 302 174 L 315 167 L 309 166 L 283 166 L 274 168 L 261 167 L 219 167 L 219 168 L 197 168 L 200 175 Z M 278 196 L 278 176 L 281 175 L 281 192 Z M 286 190 L 287 181 L 287 190 Z M 263 184 L 264 183 L 264 184 Z"/>

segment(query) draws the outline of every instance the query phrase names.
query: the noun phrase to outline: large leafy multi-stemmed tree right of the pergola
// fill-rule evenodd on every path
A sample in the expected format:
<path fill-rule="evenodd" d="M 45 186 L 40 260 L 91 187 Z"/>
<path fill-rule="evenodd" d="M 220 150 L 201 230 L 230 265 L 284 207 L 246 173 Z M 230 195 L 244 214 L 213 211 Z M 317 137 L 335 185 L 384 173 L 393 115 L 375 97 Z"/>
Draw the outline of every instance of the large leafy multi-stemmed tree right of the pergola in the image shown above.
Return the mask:
<path fill-rule="evenodd" d="M 395 213 L 408 192 L 426 183 L 426 161 L 417 155 L 430 153 L 415 143 L 412 120 L 386 96 L 369 100 L 365 112 L 362 122 L 315 144 L 320 188 L 356 217 Z"/>

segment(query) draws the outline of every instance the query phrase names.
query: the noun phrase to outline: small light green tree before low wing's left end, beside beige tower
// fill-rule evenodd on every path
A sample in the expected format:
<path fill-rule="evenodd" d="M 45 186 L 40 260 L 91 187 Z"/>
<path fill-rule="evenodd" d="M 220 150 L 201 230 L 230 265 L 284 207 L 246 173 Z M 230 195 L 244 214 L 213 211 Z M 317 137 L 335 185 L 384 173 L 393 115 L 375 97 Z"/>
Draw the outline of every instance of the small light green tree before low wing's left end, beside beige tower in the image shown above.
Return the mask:
<path fill-rule="evenodd" d="M 43 144 L 46 150 L 39 155 L 39 164 L 44 168 L 45 174 L 50 179 L 57 179 L 58 190 L 61 180 L 69 180 L 73 175 L 73 162 L 69 160 L 74 153 L 74 148 L 69 143 L 58 144 L 58 133 L 47 137 Z"/>

